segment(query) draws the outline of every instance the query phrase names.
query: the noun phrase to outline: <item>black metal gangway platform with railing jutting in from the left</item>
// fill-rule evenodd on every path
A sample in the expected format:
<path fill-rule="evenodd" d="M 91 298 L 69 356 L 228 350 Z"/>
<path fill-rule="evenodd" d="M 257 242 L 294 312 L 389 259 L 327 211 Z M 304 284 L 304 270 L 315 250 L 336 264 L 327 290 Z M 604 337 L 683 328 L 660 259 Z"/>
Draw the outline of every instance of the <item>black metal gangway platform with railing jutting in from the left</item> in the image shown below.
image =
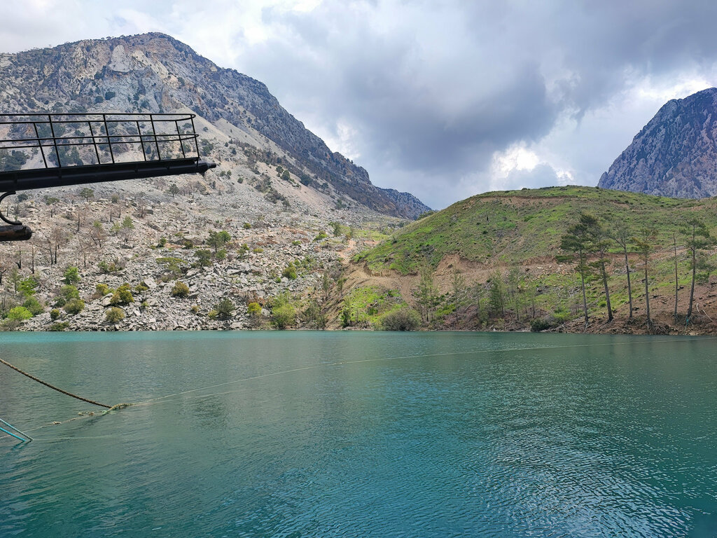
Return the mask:
<path fill-rule="evenodd" d="M 0 202 L 17 191 L 204 174 L 191 113 L 0 114 Z M 32 230 L 0 209 L 0 242 Z"/>

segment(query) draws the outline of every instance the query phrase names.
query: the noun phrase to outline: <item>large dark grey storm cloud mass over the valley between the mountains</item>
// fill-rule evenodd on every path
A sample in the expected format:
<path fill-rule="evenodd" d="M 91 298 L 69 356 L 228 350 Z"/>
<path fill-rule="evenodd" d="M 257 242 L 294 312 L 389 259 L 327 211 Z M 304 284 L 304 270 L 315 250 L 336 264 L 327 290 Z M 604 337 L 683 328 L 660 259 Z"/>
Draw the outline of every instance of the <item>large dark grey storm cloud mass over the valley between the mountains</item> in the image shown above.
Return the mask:
<path fill-rule="evenodd" d="M 539 141 L 561 115 L 582 118 L 640 77 L 711 66 L 716 15 L 711 2 L 325 2 L 267 9 L 282 35 L 239 68 L 330 140 L 351 126 L 377 183 L 420 196 L 426 186 L 392 178 L 421 172 L 450 196 L 469 174 L 487 188 L 494 151 Z"/>

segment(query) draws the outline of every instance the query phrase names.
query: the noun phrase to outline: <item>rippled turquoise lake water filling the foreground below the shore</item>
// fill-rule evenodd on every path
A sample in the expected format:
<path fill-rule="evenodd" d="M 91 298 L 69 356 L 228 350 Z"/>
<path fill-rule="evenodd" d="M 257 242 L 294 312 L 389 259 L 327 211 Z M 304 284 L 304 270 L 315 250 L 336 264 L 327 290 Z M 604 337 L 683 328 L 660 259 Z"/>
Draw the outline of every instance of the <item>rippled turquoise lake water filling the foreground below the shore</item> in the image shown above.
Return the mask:
<path fill-rule="evenodd" d="M 1 333 L 0 537 L 714 537 L 716 344 Z"/>

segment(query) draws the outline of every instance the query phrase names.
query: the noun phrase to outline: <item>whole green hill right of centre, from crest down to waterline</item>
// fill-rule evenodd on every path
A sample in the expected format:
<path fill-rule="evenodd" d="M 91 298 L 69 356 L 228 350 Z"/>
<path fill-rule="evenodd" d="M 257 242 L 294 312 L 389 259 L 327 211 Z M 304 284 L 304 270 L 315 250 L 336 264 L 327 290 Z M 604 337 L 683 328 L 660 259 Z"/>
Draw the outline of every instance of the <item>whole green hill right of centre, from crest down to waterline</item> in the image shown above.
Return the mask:
<path fill-rule="evenodd" d="M 688 217 L 696 216 L 716 235 L 717 199 L 670 199 L 594 187 L 490 192 L 412 222 L 353 258 L 347 286 L 351 308 L 361 319 L 361 301 L 356 298 L 366 296 L 361 290 L 371 287 L 374 294 L 381 289 L 392 291 L 394 296 L 399 292 L 397 300 L 421 310 L 423 317 L 429 318 L 423 326 L 429 328 L 520 329 L 535 318 L 548 319 L 551 326 L 569 324 L 580 317 L 579 278 L 571 263 L 559 263 L 556 256 L 561 254 L 561 236 L 577 222 L 581 212 L 598 217 L 607 228 L 625 223 L 635 235 L 645 227 L 657 231 L 649 265 L 650 307 L 660 323 L 672 325 L 670 330 L 684 331 L 672 315 L 673 233 L 678 245 L 678 312 L 684 315 L 691 273 L 685 250 L 687 238 L 680 234 L 680 227 Z M 625 321 L 630 312 L 625 260 L 617 245 L 614 247 L 607 267 L 612 310 L 616 318 Z M 714 253 L 707 251 L 713 263 Z M 640 331 L 635 323 L 644 318 L 642 268 L 638 256 L 630 254 L 633 315 L 637 321 L 630 321 L 631 326 L 620 331 Z M 419 299 L 419 273 L 425 275 L 427 270 L 435 284 L 430 312 Z M 490 311 L 488 303 L 495 303 L 492 294 L 498 280 L 504 304 Z M 703 324 L 698 330 L 702 332 L 717 329 L 711 325 L 711 320 L 717 319 L 717 311 L 713 315 L 711 310 L 717 298 L 712 291 L 717 279 L 712 280 L 703 271 L 695 292 Z M 462 288 L 460 293 L 458 287 Z M 597 278 L 588 281 L 587 301 L 591 319 L 597 322 L 607 316 L 602 283 Z M 381 316 L 383 308 L 370 301 L 364 307 L 364 326 L 376 326 L 376 316 Z"/>

